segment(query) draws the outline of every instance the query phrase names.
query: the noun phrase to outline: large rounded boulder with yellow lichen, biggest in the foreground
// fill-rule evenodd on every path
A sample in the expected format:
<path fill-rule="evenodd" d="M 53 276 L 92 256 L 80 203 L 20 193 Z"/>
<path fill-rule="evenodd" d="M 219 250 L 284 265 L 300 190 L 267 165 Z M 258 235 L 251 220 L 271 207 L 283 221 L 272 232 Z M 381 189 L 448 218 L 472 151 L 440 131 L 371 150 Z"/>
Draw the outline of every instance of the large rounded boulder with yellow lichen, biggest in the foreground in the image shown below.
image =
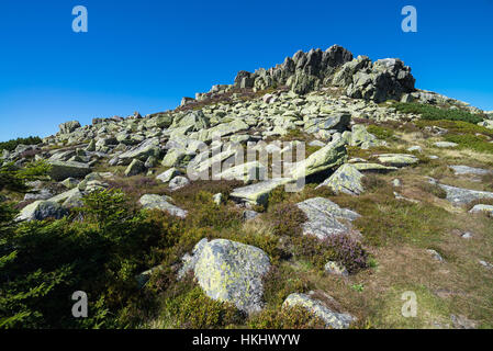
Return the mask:
<path fill-rule="evenodd" d="M 209 297 L 250 314 L 264 306 L 262 278 L 269 269 L 269 257 L 261 249 L 216 239 L 203 246 L 193 272 Z"/>

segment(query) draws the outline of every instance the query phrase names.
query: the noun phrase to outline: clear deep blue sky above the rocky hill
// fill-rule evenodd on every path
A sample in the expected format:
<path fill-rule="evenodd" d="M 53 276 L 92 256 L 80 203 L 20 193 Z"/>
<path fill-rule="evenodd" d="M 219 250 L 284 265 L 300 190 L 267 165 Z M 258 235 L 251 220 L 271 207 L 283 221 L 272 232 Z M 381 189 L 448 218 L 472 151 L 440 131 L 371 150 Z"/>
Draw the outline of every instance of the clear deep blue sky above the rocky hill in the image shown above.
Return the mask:
<path fill-rule="evenodd" d="M 88 33 L 71 31 L 79 4 Z M 406 4 L 417 33 L 401 31 Z M 1 0 L 0 140 L 172 109 L 238 70 L 333 44 L 400 57 L 417 88 L 493 110 L 492 19 L 493 0 Z"/>

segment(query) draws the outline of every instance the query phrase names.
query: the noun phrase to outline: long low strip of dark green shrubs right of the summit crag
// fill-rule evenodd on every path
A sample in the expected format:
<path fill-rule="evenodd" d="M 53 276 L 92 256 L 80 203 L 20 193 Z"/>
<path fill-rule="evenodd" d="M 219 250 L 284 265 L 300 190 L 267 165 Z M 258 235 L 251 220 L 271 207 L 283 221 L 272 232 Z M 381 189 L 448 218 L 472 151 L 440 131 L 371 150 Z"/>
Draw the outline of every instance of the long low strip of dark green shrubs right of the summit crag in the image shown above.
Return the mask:
<path fill-rule="evenodd" d="M 423 120 L 428 121 L 463 121 L 469 123 L 479 123 L 484 120 L 484 116 L 472 114 L 463 110 L 440 109 L 429 104 L 422 104 L 416 102 L 397 102 L 393 106 L 403 113 L 421 114 Z"/>

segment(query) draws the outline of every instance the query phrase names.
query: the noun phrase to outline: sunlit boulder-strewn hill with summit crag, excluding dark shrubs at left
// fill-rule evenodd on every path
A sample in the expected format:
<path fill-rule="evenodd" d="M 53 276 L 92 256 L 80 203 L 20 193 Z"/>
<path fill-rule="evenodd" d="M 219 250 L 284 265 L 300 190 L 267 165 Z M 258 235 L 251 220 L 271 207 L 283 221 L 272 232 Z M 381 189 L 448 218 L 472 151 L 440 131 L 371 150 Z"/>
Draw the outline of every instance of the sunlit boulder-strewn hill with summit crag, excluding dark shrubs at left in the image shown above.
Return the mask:
<path fill-rule="evenodd" d="M 147 291 L 167 317 L 147 310 L 138 327 L 493 326 L 492 140 L 491 112 L 416 89 L 399 58 L 334 45 L 239 71 L 173 111 L 66 122 L 42 144 L 4 149 L 9 174 L 33 165 L 46 174 L 2 201 L 16 204 L 21 228 L 49 218 L 86 228 L 81 208 L 119 189 L 135 211 L 132 225 L 119 219 L 128 228 L 159 213 L 156 235 L 169 239 L 145 239 L 127 262 L 136 291 L 124 304 Z M 103 236 L 109 217 L 93 223 Z M 401 310 L 401 290 L 426 315 L 384 315 Z M 204 306 L 239 319 L 184 322 Z"/>

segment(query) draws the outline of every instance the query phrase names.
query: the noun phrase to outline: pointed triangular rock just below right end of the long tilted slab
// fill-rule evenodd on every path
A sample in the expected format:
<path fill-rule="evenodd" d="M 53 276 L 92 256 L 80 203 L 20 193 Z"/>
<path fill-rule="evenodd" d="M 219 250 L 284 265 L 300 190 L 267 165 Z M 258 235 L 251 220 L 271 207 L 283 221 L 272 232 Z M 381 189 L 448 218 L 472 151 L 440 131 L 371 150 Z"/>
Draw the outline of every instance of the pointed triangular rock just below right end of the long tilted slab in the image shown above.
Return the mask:
<path fill-rule="evenodd" d="M 316 189 L 321 186 L 330 188 L 336 194 L 345 193 L 349 195 L 359 195 L 365 189 L 361 184 L 361 179 L 365 176 L 361 174 L 356 167 L 349 163 L 345 163 L 340 166 L 334 174 L 327 178 L 322 184 L 320 184 Z"/>

